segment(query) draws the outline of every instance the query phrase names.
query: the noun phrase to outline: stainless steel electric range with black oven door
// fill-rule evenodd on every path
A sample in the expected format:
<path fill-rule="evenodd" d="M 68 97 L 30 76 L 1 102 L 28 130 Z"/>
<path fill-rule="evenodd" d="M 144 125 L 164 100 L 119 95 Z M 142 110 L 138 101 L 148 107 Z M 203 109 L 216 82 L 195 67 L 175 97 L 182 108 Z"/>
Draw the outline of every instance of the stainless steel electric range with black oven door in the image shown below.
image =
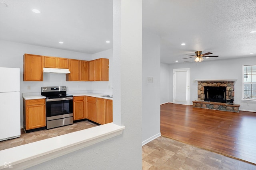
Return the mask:
<path fill-rule="evenodd" d="M 66 86 L 42 87 L 46 96 L 46 129 L 73 124 L 73 96 Z"/>

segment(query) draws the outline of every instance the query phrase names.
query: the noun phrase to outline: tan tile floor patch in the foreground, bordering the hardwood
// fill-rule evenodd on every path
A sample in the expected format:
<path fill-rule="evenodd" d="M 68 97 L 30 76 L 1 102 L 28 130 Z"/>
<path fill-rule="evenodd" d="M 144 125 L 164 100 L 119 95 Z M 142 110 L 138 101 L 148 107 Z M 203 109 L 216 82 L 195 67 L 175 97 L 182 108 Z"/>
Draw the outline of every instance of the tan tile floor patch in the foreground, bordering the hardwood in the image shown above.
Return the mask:
<path fill-rule="evenodd" d="M 158 137 L 142 147 L 142 170 L 256 170 L 256 165 Z"/>

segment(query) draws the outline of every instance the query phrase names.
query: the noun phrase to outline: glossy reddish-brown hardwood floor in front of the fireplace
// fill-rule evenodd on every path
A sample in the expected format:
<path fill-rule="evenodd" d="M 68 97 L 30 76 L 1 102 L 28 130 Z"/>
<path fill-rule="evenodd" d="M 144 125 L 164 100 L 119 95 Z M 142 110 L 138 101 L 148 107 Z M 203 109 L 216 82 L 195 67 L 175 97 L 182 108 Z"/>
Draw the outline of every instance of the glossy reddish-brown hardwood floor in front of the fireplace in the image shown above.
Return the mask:
<path fill-rule="evenodd" d="M 256 113 L 161 105 L 161 135 L 256 164 Z"/>

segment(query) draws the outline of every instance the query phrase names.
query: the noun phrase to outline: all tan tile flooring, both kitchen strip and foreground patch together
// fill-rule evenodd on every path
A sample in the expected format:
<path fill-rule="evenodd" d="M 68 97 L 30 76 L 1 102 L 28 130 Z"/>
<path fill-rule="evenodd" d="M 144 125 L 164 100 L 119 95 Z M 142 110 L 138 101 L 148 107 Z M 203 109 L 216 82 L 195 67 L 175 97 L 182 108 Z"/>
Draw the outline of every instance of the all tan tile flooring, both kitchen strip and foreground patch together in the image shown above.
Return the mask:
<path fill-rule="evenodd" d="M 0 150 L 95 127 L 90 121 L 24 133 L 0 142 Z M 256 170 L 256 165 L 169 139 L 158 137 L 142 147 L 142 170 Z"/>

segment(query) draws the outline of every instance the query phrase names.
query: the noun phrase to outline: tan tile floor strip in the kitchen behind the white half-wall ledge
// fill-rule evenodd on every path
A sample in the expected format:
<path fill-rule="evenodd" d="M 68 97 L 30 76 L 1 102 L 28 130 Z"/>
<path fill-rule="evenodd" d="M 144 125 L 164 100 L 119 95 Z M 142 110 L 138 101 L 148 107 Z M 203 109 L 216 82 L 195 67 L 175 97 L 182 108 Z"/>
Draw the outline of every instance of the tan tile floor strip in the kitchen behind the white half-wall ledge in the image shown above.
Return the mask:
<path fill-rule="evenodd" d="M 27 143 L 32 143 L 35 141 L 40 141 L 40 140 L 51 138 L 51 137 L 56 137 L 59 135 L 64 135 L 64 134 L 75 132 L 75 131 L 80 131 L 80 130 L 87 129 L 90 127 L 95 127 L 95 126 L 98 126 L 98 125 L 86 120 L 86 121 L 76 122 L 72 125 L 56 127 L 48 130 L 45 129 L 45 130 L 35 131 L 30 133 L 25 133 L 24 130 L 21 129 L 20 137 L 15 139 L 9 139 L 6 141 L 1 141 L 0 150 L 16 147 L 19 145 L 24 145 Z"/>

